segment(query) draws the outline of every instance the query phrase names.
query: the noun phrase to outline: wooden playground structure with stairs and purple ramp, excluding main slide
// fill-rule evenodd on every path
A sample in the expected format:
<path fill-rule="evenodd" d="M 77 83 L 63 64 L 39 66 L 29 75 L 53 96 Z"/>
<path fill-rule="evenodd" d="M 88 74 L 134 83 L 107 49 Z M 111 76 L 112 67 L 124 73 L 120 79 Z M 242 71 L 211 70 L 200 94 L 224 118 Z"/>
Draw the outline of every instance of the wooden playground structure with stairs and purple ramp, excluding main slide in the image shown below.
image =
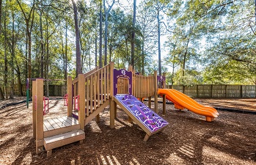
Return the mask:
<path fill-rule="evenodd" d="M 165 88 L 165 74 L 157 76 L 155 71 L 153 76 L 141 76 L 137 75 L 132 67 L 129 67 L 128 71 L 115 70 L 114 62 L 110 62 L 100 69 L 96 67 L 88 73 L 79 74 L 74 80 L 68 76 L 65 95 L 67 116 L 43 120 L 43 79 L 37 78 L 32 82 L 33 136 L 36 139 L 36 153 L 43 152 L 45 147 L 49 156 L 56 147 L 83 142 L 84 126 L 94 118 L 99 122 L 99 114 L 106 106 L 109 106 L 110 111 L 110 128 L 114 128 L 118 105 L 128 114 L 129 122 L 136 122 L 145 131 L 146 142 L 150 136 L 169 124 L 158 116 L 158 94 L 163 95 L 163 114 L 166 111 L 166 98 L 172 96 L 169 93 L 159 93 L 158 87 Z M 155 100 L 154 111 L 151 110 L 152 97 Z M 142 103 L 143 98 L 148 98 L 148 106 Z M 188 109 L 181 103 L 175 105 Z"/>

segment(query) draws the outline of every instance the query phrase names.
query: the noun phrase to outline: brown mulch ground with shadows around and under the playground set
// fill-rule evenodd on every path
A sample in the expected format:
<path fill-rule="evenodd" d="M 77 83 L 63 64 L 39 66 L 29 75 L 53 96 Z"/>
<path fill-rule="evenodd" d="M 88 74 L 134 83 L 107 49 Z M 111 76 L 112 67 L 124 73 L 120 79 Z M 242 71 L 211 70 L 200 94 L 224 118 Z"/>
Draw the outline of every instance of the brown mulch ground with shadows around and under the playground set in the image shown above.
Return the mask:
<path fill-rule="evenodd" d="M 255 110 L 256 99 L 197 99 L 202 104 L 222 108 Z M 65 115 L 63 100 L 51 100 L 53 117 Z M 146 102 L 147 104 L 147 102 Z M 32 139 L 32 104 L 0 110 L 0 164 L 256 164 L 256 115 L 219 111 L 219 117 L 206 122 L 191 111 L 175 110 L 167 104 L 167 128 L 143 142 L 145 132 L 129 123 L 124 111 L 117 111 L 115 128 L 109 128 L 109 109 L 100 122 L 85 127 L 83 144 L 68 144 L 35 154 Z"/>

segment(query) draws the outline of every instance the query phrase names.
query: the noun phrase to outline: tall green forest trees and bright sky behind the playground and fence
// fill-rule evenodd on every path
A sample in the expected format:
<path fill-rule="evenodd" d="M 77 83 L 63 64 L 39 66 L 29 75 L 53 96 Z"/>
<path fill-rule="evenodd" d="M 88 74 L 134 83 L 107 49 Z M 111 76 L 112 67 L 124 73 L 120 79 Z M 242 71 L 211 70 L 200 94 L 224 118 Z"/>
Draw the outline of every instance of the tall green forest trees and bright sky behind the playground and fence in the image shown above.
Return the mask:
<path fill-rule="evenodd" d="M 256 84 L 256 0 L 0 5 L 0 98 L 13 98 L 15 84 L 22 95 L 26 78 L 75 78 L 111 61 L 143 75 L 170 71 L 167 84 Z"/>

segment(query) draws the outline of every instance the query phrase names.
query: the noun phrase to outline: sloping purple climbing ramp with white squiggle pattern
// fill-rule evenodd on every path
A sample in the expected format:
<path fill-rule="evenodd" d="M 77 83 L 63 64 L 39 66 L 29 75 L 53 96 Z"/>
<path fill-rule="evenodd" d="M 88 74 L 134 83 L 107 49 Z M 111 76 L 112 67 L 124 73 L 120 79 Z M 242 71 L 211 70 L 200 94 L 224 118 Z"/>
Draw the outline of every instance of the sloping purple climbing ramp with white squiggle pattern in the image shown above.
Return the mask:
<path fill-rule="evenodd" d="M 114 97 L 117 98 L 139 122 L 142 122 L 151 133 L 169 125 L 166 120 L 159 117 L 158 114 L 135 98 L 134 95 L 115 95 Z"/>

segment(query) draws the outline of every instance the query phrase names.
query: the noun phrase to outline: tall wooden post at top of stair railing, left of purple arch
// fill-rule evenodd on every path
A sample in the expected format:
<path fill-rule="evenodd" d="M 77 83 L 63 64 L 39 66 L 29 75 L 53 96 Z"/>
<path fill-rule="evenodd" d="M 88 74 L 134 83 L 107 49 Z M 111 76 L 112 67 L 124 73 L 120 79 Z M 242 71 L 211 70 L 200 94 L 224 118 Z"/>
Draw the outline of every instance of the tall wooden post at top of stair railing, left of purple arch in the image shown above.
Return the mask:
<path fill-rule="evenodd" d="M 114 62 L 110 62 L 109 68 L 109 79 L 110 79 L 110 99 L 109 99 L 109 111 L 110 111 L 110 128 L 114 128 Z"/>

